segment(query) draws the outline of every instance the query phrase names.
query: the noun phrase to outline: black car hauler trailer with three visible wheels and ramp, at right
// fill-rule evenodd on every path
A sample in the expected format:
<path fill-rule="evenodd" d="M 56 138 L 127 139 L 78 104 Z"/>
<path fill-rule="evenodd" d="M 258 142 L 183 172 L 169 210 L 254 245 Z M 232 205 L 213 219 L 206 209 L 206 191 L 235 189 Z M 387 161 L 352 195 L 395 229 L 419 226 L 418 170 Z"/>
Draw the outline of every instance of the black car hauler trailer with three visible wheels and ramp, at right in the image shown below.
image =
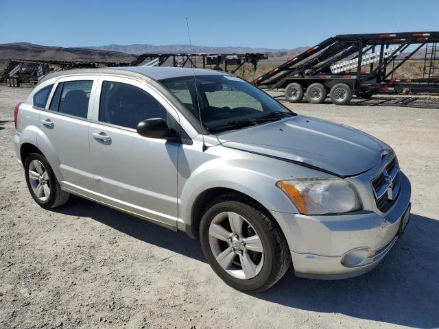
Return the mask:
<path fill-rule="evenodd" d="M 285 98 L 322 103 L 327 95 L 344 105 L 353 95 L 439 93 L 439 32 L 345 34 L 327 38 L 253 80 L 260 88 L 283 88 Z M 423 49 L 425 53 L 422 53 Z M 423 77 L 394 79 L 415 53 L 423 54 Z M 362 67 L 368 71 L 362 71 Z"/>

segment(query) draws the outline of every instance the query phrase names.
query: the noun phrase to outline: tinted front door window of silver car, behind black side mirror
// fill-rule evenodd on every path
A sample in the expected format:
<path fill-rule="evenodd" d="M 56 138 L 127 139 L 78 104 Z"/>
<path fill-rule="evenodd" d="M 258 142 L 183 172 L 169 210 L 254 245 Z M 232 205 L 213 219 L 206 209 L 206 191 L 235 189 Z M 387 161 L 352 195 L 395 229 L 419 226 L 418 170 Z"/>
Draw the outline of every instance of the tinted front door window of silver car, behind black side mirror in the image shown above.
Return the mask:
<path fill-rule="evenodd" d="M 99 121 L 136 129 L 145 119 L 167 119 L 167 111 L 145 90 L 121 82 L 102 82 Z"/>

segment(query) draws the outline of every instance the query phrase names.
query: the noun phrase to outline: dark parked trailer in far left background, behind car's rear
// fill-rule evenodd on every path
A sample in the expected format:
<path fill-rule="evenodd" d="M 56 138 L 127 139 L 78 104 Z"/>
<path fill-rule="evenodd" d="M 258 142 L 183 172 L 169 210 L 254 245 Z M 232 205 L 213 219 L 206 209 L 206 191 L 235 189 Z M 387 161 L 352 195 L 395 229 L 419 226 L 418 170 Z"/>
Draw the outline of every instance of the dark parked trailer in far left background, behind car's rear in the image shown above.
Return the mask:
<path fill-rule="evenodd" d="M 8 87 L 19 87 L 25 82 L 36 83 L 47 73 L 71 69 L 128 66 L 124 62 L 71 62 L 60 60 L 9 60 L 0 81 Z"/>

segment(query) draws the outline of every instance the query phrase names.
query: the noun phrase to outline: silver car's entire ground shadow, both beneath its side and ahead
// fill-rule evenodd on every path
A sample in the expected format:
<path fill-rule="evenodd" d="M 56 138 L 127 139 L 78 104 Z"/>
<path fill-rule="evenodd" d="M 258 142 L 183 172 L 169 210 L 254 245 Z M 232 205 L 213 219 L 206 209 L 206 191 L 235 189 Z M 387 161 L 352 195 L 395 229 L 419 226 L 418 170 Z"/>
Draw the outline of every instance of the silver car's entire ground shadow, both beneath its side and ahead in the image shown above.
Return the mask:
<path fill-rule="evenodd" d="M 66 215 L 91 217 L 124 234 L 206 263 L 200 243 L 154 223 L 71 197 L 56 208 Z M 412 215 L 401 241 L 370 273 L 346 280 L 296 278 L 292 268 L 268 291 L 252 294 L 291 308 L 340 313 L 359 319 L 415 328 L 438 328 L 439 220 Z"/>

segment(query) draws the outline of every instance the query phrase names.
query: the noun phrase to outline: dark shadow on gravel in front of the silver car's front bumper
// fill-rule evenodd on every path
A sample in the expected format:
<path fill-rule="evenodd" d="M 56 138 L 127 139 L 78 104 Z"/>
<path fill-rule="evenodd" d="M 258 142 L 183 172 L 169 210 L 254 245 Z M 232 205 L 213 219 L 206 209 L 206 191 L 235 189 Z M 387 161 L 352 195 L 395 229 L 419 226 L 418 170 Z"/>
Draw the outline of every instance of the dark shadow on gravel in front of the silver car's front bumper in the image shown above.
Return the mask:
<path fill-rule="evenodd" d="M 439 220 L 412 215 L 402 239 L 372 271 L 346 280 L 309 280 L 293 270 L 255 297 L 289 307 L 439 328 Z"/>

